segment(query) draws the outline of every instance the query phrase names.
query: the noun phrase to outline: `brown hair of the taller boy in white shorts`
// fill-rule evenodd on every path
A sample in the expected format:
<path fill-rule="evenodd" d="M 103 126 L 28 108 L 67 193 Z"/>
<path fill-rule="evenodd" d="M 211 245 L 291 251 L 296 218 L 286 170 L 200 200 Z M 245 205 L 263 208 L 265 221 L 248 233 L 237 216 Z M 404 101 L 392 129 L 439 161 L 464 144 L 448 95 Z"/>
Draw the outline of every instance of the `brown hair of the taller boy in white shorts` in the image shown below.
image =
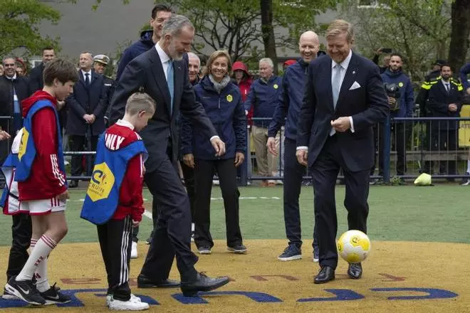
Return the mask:
<path fill-rule="evenodd" d="M 51 86 L 56 78 L 63 84 L 67 82 L 76 83 L 78 81 L 77 68 L 75 68 L 71 61 L 65 58 L 53 59 L 44 68 L 44 85 Z"/>

